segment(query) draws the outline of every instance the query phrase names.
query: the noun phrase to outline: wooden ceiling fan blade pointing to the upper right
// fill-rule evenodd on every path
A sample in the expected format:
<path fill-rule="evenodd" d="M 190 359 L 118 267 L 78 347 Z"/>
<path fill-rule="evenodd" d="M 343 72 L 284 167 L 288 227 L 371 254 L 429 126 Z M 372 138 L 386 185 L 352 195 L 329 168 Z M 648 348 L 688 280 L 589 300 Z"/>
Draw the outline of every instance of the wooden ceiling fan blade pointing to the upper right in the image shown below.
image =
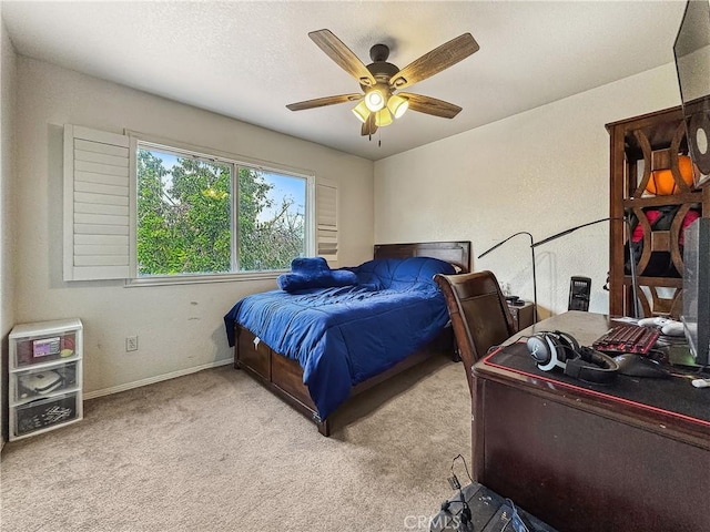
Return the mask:
<path fill-rule="evenodd" d="M 404 89 L 405 86 L 424 81 L 466 59 L 471 53 L 478 51 L 479 48 L 470 33 L 464 33 L 406 65 L 392 76 L 389 86 L 393 89 Z"/>

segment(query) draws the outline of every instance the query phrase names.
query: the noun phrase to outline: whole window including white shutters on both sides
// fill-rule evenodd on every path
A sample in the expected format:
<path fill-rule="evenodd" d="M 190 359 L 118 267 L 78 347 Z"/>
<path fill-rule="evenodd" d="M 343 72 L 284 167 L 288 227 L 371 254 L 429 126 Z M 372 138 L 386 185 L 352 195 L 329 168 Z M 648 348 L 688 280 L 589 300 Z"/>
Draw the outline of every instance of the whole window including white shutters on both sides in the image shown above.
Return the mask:
<path fill-rule="evenodd" d="M 65 125 L 64 280 L 267 276 L 315 253 L 335 266 L 337 184 L 240 158 Z"/>

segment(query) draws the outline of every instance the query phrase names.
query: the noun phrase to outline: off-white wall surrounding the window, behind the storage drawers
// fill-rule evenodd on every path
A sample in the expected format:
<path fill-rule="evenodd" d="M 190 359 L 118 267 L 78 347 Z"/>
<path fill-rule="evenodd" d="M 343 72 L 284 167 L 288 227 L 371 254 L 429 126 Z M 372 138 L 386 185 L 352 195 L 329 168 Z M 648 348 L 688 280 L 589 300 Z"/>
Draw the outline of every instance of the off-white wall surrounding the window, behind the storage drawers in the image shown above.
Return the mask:
<path fill-rule="evenodd" d="M 124 288 L 62 282 L 62 124 L 150 133 L 314 171 L 339 183 L 342 264 L 372 258 L 373 163 L 59 66 L 18 58 L 17 321 L 79 317 L 84 389 L 99 393 L 229 360 L 223 316 L 275 280 Z M 125 352 L 138 335 L 139 350 Z"/>

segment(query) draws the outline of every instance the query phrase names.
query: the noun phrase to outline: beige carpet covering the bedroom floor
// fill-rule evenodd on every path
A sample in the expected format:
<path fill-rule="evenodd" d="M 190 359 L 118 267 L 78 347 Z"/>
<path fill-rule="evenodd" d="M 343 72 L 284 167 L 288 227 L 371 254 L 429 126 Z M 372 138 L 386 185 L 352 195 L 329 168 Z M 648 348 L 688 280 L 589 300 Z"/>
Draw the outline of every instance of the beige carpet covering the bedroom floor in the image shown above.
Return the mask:
<path fill-rule="evenodd" d="M 470 467 L 469 397 L 437 358 L 339 411 L 331 438 L 231 366 L 93 399 L 4 446 L 0 528 L 428 531 L 453 459 Z"/>

